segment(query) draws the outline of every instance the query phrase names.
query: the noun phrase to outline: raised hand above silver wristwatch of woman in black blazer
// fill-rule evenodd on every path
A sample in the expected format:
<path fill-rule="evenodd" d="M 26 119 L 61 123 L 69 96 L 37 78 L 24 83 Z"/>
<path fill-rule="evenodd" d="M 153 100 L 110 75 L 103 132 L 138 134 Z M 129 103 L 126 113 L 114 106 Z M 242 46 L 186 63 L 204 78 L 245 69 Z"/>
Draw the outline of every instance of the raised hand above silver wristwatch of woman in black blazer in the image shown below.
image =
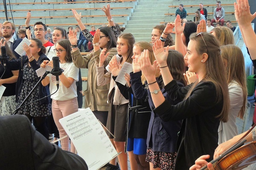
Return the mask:
<path fill-rule="evenodd" d="M 154 66 L 151 65 L 148 50 L 144 50 L 140 55 L 140 68 L 147 81 L 156 80 L 157 62 L 154 61 Z"/>

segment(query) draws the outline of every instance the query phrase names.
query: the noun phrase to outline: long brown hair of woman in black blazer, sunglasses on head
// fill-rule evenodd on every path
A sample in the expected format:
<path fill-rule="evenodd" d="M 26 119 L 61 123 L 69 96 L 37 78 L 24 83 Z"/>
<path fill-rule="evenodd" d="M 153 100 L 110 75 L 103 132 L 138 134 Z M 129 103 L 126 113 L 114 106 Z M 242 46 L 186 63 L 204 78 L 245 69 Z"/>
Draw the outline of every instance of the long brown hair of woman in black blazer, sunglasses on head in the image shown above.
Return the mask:
<path fill-rule="evenodd" d="M 206 73 L 202 81 L 212 82 L 215 85 L 217 93 L 216 102 L 219 102 L 221 101 L 221 99 L 223 99 L 222 111 L 221 114 L 219 114 L 217 117 L 219 117 L 220 121 L 227 122 L 230 102 L 228 94 L 228 85 L 225 75 L 223 74 L 225 72 L 225 69 L 222 57 L 220 55 L 221 49 L 219 48 L 219 41 L 212 34 L 207 32 L 201 33 L 201 36 L 197 36 L 196 33 L 193 33 L 190 35 L 189 38 L 190 41 L 195 41 L 196 51 L 198 55 L 203 53 L 208 54 L 208 59 L 205 62 Z M 205 46 L 204 42 L 208 49 L 201 48 Z M 191 92 L 193 91 L 197 84 L 198 80 L 190 87 L 185 99 L 187 99 L 190 96 Z"/>

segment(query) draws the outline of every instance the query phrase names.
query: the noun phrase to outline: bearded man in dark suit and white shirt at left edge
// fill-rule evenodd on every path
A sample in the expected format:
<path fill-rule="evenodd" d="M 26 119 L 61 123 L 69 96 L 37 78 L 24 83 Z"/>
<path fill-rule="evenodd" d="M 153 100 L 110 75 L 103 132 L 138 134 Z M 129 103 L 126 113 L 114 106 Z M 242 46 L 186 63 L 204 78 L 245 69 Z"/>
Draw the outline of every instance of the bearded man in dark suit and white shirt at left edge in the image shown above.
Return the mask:
<path fill-rule="evenodd" d="M 21 38 L 18 38 L 14 40 L 13 34 L 15 33 L 15 24 L 10 21 L 4 21 L 2 23 L 2 28 L 0 30 L 0 36 L 4 37 L 4 40 L 8 44 L 8 46 L 11 48 L 13 54 L 18 59 L 20 55 L 16 53 L 14 50 L 19 45 L 19 43 L 22 41 Z"/>

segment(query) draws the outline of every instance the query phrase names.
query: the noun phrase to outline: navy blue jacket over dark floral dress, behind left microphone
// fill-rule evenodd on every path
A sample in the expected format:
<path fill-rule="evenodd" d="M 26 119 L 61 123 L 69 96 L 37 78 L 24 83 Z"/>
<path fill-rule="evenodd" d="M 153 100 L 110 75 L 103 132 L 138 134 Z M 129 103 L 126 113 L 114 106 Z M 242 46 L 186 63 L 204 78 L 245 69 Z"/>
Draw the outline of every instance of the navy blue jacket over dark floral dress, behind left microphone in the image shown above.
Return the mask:
<path fill-rule="evenodd" d="M 35 71 L 37 69 L 40 68 L 40 65 L 43 63 L 44 60 L 49 60 L 49 58 L 47 58 L 47 56 L 45 54 L 42 54 L 38 61 L 36 60 L 33 60 L 30 63 L 32 69 Z M 18 60 L 16 60 L 17 62 L 20 62 L 20 67 L 19 67 L 19 76 L 18 76 L 18 80 L 17 80 L 17 83 L 16 83 L 16 103 L 18 103 L 18 100 L 19 100 L 19 96 L 20 96 L 20 93 L 21 93 L 21 90 L 22 90 L 22 86 L 23 86 L 23 82 L 24 82 L 24 79 L 23 79 L 23 68 L 24 68 L 24 65 L 25 63 L 28 62 L 28 56 L 24 55 L 22 57 L 20 57 Z M 42 83 L 39 84 L 39 99 L 45 97 L 45 96 L 48 96 L 50 95 L 50 90 L 49 90 L 49 85 L 47 86 L 43 86 Z M 40 104 L 49 104 L 51 103 L 51 97 L 47 97 L 47 98 L 44 98 L 42 100 L 39 100 Z"/>

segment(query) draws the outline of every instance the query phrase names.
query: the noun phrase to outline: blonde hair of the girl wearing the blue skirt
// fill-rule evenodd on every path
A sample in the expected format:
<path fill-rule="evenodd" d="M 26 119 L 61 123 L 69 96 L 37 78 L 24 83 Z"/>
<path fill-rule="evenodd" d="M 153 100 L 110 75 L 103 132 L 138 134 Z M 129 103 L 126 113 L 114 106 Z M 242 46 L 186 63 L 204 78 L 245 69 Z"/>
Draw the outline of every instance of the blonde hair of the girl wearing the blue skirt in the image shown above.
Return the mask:
<path fill-rule="evenodd" d="M 141 52 L 143 52 L 143 50 L 148 50 L 150 62 L 151 62 L 151 64 L 154 63 L 156 58 L 155 58 L 155 55 L 154 55 L 154 52 L 153 52 L 152 45 L 150 43 L 148 43 L 146 41 L 139 41 L 139 42 L 135 43 L 134 46 L 139 47 Z M 145 78 L 144 74 L 142 74 L 141 75 L 141 82 L 142 82 L 142 84 L 145 84 L 145 81 L 146 81 L 146 78 Z"/>

